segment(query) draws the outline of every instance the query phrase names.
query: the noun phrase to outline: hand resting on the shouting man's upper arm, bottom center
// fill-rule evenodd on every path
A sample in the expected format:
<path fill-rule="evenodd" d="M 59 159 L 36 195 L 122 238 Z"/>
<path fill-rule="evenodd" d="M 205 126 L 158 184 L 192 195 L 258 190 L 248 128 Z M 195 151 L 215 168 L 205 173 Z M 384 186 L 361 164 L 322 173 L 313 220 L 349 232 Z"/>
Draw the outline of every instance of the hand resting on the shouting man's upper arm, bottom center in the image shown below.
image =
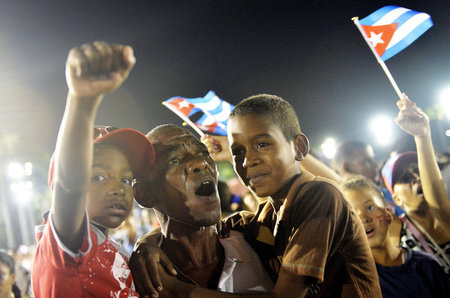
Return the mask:
<path fill-rule="evenodd" d="M 129 266 L 136 290 L 141 295 L 158 297 L 158 292 L 163 290 L 158 267 L 162 266 L 172 275 L 177 274 L 170 259 L 158 246 L 160 238 L 160 233 L 154 231 L 140 237 L 131 255 Z"/>

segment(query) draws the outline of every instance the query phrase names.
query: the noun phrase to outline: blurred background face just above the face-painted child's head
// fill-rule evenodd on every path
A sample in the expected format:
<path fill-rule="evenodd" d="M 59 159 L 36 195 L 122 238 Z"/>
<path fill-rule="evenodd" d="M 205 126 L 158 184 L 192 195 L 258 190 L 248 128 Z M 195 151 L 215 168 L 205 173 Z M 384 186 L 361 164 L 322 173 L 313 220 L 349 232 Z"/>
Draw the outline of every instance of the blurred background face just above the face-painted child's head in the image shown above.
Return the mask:
<path fill-rule="evenodd" d="M 356 149 L 350 166 L 353 174 L 363 175 L 373 182 L 377 182 L 377 164 L 371 146 Z"/>

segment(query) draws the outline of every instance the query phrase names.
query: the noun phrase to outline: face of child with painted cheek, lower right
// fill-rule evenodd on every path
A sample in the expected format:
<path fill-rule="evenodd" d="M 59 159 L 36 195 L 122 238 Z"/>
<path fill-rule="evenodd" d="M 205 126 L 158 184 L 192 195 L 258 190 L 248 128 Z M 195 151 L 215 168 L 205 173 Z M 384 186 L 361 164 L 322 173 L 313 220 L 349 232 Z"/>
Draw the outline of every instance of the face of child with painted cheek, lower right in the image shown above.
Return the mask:
<path fill-rule="evenodd" d="M 382 199 L 369 188 L 358 188 L 345 191 L 347 200 L 359 215 L 371 248 L 383 247 L 389 241 L 387 233 L 392 215 L 385 208 Z"/>

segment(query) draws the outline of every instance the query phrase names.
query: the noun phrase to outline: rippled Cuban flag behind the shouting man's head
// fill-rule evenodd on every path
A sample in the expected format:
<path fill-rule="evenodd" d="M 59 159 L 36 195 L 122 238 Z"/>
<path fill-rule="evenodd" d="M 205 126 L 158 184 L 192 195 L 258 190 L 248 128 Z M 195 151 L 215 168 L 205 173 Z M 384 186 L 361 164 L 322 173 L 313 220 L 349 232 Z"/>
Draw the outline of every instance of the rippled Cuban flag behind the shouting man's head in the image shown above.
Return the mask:
<path fill-rule="evenodd" d="M 214 91 L 204 97 L 172 97 L 163 104 L 182 119 L 188 118 L 201 130 L 227 135 L 227 120 L 234 106 L 219 98 Z"/>

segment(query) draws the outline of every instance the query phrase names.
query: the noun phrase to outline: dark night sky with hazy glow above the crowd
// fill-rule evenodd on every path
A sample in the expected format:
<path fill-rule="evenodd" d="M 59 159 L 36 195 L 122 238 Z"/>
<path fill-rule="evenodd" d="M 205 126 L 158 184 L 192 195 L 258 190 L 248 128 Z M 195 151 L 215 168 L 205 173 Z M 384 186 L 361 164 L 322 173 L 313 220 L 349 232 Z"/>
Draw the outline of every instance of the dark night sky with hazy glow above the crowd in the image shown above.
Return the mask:
<path fill-rule="evenodd" d="M 14 134 L 43 155 L 53 151 L 63 114 L 67 53 L 94 40 L 129 44 L 137 58 L 128 81 L 105 98 L 97 123 L 144 133 L 181 123 L 161 105 L 172 96 L 214 90 L 236 104 L 271 93 L 292 103 L 313 147 L 333 136 L 382 152 L 368 119 L 393 118 L 396 94 L 351 18 L 389 4 L 427 12 L 435 24 L 386 62 L 400 89 L 426 108 L 450 84 L 444 0 L 42 3 L 0 0 L 0 136 Z"/>

